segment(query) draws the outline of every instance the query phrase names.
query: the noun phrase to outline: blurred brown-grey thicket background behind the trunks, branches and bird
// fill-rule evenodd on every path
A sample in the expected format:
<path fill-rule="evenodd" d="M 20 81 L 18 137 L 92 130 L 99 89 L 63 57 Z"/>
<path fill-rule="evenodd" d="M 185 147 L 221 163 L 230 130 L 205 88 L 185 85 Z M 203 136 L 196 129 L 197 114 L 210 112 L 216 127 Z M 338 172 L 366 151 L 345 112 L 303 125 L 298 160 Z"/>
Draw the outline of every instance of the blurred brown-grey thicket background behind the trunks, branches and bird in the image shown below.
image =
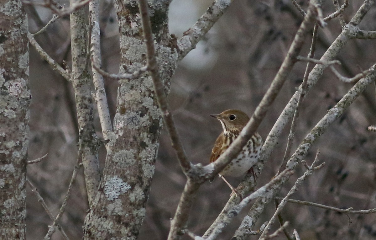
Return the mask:
<path fill-rule="evenodd" d="M 61 5 L 68 4 L 58 1 Z M 170 33 L 177 37 L 189 29 L 206 11 L 211 0 L 173 0 L 169 11 Z M 306 9 L 308 1 L 299 4 Z M 340 2 L 342 4 L 342 2 Z M 348 22 L 362 4 L 350 1 L 344 12 Z M 39 6 L 25 6 L 29 17 L 29 31 L 37 32 L 51 18 L 52 13 Z M 333 4 L 322 5 L 324 15 L 335 11 Z M 174 119 L 185 151 L 193 163 L 207 164 L 214 141 L 222 131 L 220 122 L 211 118 L 229 108 L 252 114 L 269 87 L 282 63 L 297 28 L 302 20 L 289 0 L 250 1 L 237 0 L 215 26 L 179 63 L 171 81 L 168 96 Z M 376 30 L 376 8 L 373 6 L 361 23 L 361 29 Z M 101 33 L 103 68 L 117 73 L 119 61 L 118 26 L 113 4 L 101 2 Z M 319 29 L 315 58 L 319 59 L 341 32 L 338 19 L 331 20 L 325 29 Z M 38 43 L 61 65 L 70 65 L 69 18 L 53 23 L 47 32 L 36 37 Z M 301 55 L 308 54 L 311 36 L 307 36 Z M 338 55 L 341 66 L 336 66 L 344 76 L 352 77 L 368 69 L 376 61 L 376 40 L 351 40 Z M 302 82 L 305 63 L 298 62 L 280 91 L 273 107 L 258 129 L 265 139 L 274 122 Z M 111 117 L 115 113 L 117 82 L 105 80 Z M 340 82 L 330 70 L 303 102 L 296 129 L 293 150 L 315 126 L 328 109 L 334 106 L 352 87 Z M 29 165 L 27 176 L 44 197 L 54 215 L 64 199 L 77 157 L 78 133 L 74 94 L 71 85 L 55 73 L 47 62 L 41 60 L 30 46 L 30 146 L 29 160 L 49 153 L 40 163 Z M 369 86 L 320 140 L 312 147 L 306 161 L 311 164 L 315 151 L 320 149 L 320 161 L 326 166 L 307 179 L 294 199 L 317 202 L 338 208 L 355 210 L 376 208 L 376 134 L 367 131 L 376 124 L 374 86 Z M 96 115 L 97 134 L 102 136 Z M 282 161 L 287 136 L 286 128 L 258 178 L 257 187 L 268 182 Z M 100 149 L 101 167 L 104 166 L 105 148 Z M 279 196 L 284 196 L 294 181 L 304 172 L 298 167 L 290 182 Z M 162 130 L 155 177 L 152 182 L 146 219 L 138 239 L 166 239 L 170 219 L 174 216 L 186 178 L 180 170 L 171 148 L 167 132 Z M 237 185 L 241 178 L 229 178 Z M 188 228 L 198 235 L 215 220 L 229 199 L 231 190 L 216 178 L 205 183 L 197 194 L 191 210 Z M 77 176 L 67 210 L 62 217 L 62 227 L 70 239 L 82 238 L 82 225 L 88 209 L 82 169 Z M 230 239 L 250 206 L 244 209 L 218 239 Z M 268 205 L 257 227 L 269 220 L 275 210 Z M 282 212 L 290 221 L 288 231 L 297 229 L 302 239 L 374 239 L 376 217 L 371 215 L 338 214 L 324 209 L 287 204 Z M 41 239 L 52 222 L 27 188 L 27 238 Z M 275 227 L 277 227 L 275 225 Z M 257 229 L 253 229 L 257 230 Z M 257 239 L 257 236 L 250 239 Z M 53 239 L 62 239 L 56 232 Z M 184 239 L 189 239 L 185 237 Z M 276 239 L 285 239 L 280 235 Z"/>

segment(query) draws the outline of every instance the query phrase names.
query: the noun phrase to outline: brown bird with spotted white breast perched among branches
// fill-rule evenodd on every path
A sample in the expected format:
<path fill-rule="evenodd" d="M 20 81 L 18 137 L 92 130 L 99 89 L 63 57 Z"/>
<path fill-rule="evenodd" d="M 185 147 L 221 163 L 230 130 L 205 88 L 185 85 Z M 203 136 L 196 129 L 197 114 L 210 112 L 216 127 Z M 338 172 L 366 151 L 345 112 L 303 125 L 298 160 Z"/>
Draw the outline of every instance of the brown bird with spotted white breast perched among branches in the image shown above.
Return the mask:
<path fill-rule="evenodd" d="M 249 117 L 246 113 L 237 110 L 229 109 L 220 114 L 212 114 L 211 117 L 215 117 L 220 120 L 223 132 L 219 135 L 215 141 L 212 153 L 210 156 L 210 163 L 216 161 L 219 156 L 230 146 L 230 144 L 238 137 L 241 130 L 246 126 L 249 121 Z M 253 172 L 252 166 L 255 165 L 260 157 L 262 147 L 262 138 L 257 132 L 252 135 L 246 146 L 243 147 L 239 155 L 234 158 L 220 173 L 219 177 L 222 178 L 231 190 L 238 194 L 238 191 L 233 188 L 224 176 L 241 176 L 248 170 Z M 256 176 L 253 172 L 253 176 Z M 240 197 L 242 197 L 240 195 Z"/>

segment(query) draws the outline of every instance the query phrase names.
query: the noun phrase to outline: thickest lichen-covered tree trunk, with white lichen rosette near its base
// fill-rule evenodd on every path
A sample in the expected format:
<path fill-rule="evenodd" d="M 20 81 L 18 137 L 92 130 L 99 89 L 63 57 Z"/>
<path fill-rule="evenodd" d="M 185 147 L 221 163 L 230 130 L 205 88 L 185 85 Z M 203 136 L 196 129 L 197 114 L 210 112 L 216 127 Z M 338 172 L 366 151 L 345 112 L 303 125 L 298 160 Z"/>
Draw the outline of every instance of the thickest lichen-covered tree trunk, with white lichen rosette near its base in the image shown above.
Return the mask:
<path fill-rule="evenodd" d="M 149 1 L 161 79 L 169 90 L 177 52 L 170 46 L 167 14 L 170 1 Z M 116 2 L 120 29 L 120 73 L 146 63 L 138 2 Z M 114 137 L 108 143 L 99 193 L 85 219 L 85 239 L 136 239 L 145 217 L 162 127 L 149 73 L 120 81 Z"/>

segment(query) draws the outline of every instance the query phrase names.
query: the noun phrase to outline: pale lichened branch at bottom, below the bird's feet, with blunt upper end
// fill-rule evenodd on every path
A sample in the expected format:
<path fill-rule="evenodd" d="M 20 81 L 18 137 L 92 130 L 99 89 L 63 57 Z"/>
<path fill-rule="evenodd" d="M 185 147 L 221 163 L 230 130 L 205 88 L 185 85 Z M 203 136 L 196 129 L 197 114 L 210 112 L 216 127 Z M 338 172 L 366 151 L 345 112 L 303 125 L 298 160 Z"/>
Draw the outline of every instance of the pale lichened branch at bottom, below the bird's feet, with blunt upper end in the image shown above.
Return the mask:
<path fill-rule="evenodd" d="M 260 187 L 258 190 L 251 193 L 249 196 L 245 197 L 238 205 L 233 206 L 229 211 L 224 214 L 222 219 L 218 220 L 218 224 L 215 228 L 211 229 L 210 234 L 204 234 L 203 237 L 206 240 L 215 240 L 217 239 L 218 235 L 223 231 L 223 229 L 232 221 L 232 219 L 237 216 L 240 211 L 246 207 L 252 200 L 264 196 L 265 193 L 269 191 L 273 191 L 273 189 L 279 184 L 282 178 L 288 178 L 289 176 L 293 175 L 294 171 L 290 169 L 285 169 L 280 175 L 276 176 L 275 178 L 271 179 L 270 182 L 265 184 L 264 186 Z M 217 220 L 216 220 L 217 221 Z M 206 231 L 208 232 L 208 231 Z"/>

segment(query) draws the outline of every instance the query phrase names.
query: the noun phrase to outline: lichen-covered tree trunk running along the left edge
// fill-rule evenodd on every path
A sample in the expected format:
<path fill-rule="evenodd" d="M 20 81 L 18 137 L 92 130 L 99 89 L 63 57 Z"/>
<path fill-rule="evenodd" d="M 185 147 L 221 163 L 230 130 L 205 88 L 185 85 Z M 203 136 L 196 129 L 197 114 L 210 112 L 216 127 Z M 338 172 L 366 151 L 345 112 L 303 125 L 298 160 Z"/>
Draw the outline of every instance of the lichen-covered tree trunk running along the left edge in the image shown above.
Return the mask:
<path fill-rule="evenodd" d="M 29 48 L 21 1 L 0 0 L 0 235 L 25 239 Z"/>

